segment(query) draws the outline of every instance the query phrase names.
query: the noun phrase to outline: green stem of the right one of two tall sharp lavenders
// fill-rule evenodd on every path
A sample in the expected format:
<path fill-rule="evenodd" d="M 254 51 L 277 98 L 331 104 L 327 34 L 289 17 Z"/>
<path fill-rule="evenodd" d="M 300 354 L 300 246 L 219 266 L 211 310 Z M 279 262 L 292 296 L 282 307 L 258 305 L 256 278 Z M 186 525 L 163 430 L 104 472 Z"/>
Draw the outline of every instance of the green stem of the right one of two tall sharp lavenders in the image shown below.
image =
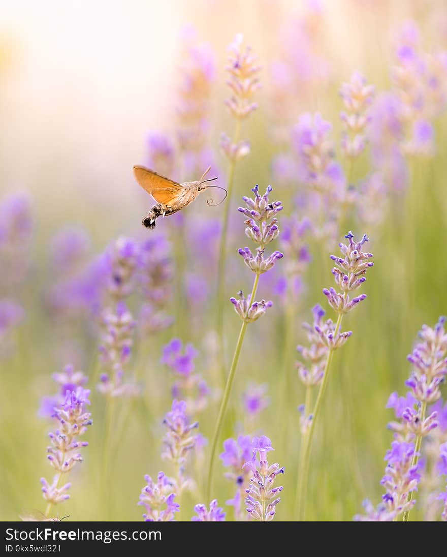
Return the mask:
<path fill-rule="evenodd" d="M 338 314 L 337 323 L 335 325 L 335 336 L 340 331 L 341 320 L 343 314 Z M 334 350 L 329 350 L 327 353 L 325 373 L 323 375 L 323 380 L 318 389 L 317 400 L 315 402 L 315 407 L 312 412 L 312 420 L 307 432 L 303 435 L 301 451 L 299 454 L 299 469 L 298 469 L 298 482 L 297 482 L 297 494 L 295 505 L 298 507 L 298 520 L 304 520 L 304 513 L 306 511 L 306 494 L 307 494 L 307 480 L 309 472 L 310 454 L 312 446 L 313 431 L 315 429 L 315 422 L 320 412 L 321 402 L 326 391 L 327 380 L 329 376 L 329 369 L 331 367 L 331 361 Z"/>

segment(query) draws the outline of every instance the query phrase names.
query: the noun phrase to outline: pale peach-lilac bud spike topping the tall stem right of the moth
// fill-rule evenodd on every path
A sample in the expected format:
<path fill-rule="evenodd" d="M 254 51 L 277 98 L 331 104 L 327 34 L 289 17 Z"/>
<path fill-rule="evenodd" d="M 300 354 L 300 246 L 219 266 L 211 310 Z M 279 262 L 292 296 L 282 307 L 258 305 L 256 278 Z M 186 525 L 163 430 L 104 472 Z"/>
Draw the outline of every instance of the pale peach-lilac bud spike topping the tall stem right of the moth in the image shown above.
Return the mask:
<path fill-rule="evenodd" d="M 256 57 L 250 48 L 242 47 L 242 42 L 243 35 L 238 33 L 230 45 L 227 85 L 232 95 L 225 101 L 233 117 L 238 120 L 247 118 L 258 108 L 257 102 L 253 102 L 253 97 L 261 88 L 258 77 L 261 68 L 257 65 Z"/>

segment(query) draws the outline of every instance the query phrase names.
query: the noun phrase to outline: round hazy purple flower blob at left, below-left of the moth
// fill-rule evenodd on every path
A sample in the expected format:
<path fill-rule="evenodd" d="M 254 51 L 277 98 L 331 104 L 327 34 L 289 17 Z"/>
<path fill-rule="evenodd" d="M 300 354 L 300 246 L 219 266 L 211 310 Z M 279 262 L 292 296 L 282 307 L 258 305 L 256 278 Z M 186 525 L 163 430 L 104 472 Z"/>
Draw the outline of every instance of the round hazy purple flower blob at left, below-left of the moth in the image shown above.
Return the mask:
<path fill-rule="evenodd" d="M 80 270 L 90 248 L 90 236 L 85 229 L 75 226 L 62 228 L 51 240 L 52 265 L 60 276 L 70 276 Z"/>

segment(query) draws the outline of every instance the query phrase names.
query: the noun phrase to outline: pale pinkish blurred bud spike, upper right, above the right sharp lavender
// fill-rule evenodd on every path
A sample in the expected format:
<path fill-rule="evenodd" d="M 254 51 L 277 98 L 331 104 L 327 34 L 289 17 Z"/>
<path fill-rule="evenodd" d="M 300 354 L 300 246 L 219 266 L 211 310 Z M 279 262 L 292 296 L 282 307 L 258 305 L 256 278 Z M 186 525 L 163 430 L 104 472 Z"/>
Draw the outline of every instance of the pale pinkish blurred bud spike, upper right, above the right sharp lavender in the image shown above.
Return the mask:
<path fill-rule="evenodd" d="M 368 85 L 364 76 L 356 72 L 351 81 L 343 83 L 340 95 L 346 111 L 340 114 L 345 128 L 342 136 L 342 151 L 346 157 L 354 159 L 366 146 L 365 128 L 369 122 L 367 108 L 374 97 L 374 85 Z"/>

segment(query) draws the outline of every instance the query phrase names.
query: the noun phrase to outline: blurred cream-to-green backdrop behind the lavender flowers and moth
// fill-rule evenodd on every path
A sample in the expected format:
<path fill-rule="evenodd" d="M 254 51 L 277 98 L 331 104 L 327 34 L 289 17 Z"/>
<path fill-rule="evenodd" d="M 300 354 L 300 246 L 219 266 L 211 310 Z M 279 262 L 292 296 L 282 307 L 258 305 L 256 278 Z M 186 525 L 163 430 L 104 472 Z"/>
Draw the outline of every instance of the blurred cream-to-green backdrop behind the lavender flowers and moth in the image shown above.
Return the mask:
<path fill-rule="evenodd" d="M 409 21 L 419 28 L 421 50 L 446 49 L 443 4 L 441 0 L 134 0 L 18 1 L 3 6 L 0 203 L 18 194 L 25 208 L 19 212 L 9 248 L 3 245 L 1 263 L 2 298 L 20 304 L 23 315 L 11 328 L 0 323 L 0 519 L 18 520 L 24 510 L 45 510 L 39 479 L 51 477 L 46 462 L 51 424 L 38 411 L 42 397 L 56 391 L 51 375 L 65 364 L 72 362 L 90 377 L 94 424 L 86 434 L 90 446 L 83 451 L 85 460 L 70 475 L 71 499 L 57 509 L 61 516 L 140 520 L 142 509 L 136 503 L 144 474 L 170 473 L 160 452 L 161 421 L 170 408 L 173 375 L 160 358 L 174 336 L 199 351 L 195 366 L 210 394 L 197 419 L 204 437 L 212 434 L 220 387 L 213 329 L 222 205 L 208 207 L 202 196 L 185 209 L 181 223 L 174 217 L 159 221 L 155 234 L 169 242 L 165 254 L 172 269 L 165 310 L 174 323 L 136 335 L 127 369 L 143 387 L 139 396 L 117 400 L 106 455 L 105 398 L 95 390 L 101 368 L 95 312 L 80 307 L 78 300 L 68 300 L 69 290 L 61 289 L 62 301 L 57 304 L 52 297 L 57 285 L 68 280 L 64 273 L 73 276 L 75 267 L 76 273 L 82 272 L 110 250 L 116 238 L 144 242 L 153 234 L 141 227 L 152 200 L 136 184 L 131 169 L 134 164 L 149 164 L 148 134 L 164 134 L 175 144 L 187 46 L 208 43 L 213 52 L 208 148 L 222 185 L 228 163 L 220 153 L 219 138 L 222 131 L 231 135 L 234 127 L 224 105 L 229 96 L 225 66 L 236 33 L 243 33 L 262 67 L 259 108 L 242 131 L 250 141 L 250 154 L 237 164 L 231 199 L 227 300 L 239 289 L 249 291 L 253 280 L 242 260 L 233 256 L 237 247 L 247 244 L 243 217 L 237 212 L 240 197 L 248 195 L 254 184 L 263 189 L 271 183 L 272 199 L 281 199 L 284 205 L 281 218 L 292 213 L 306 216 L 297 201 L 306 184 L 278 173 L 274 163 L 278 154 L 290 150 L 288 136 L 299 115 L 318 111 L 331 121 L 334 150 L 348 174 L 340 150 L 342 82 L 360 71 L 375 85 L 376 95 L 392 90 L 396 45 Z M 282 65 L 290 72 L 284 78 L 286 85 L 278 73 Z M 386 428 L 392 417 L 386 401 L 395 390 L 404 394 L 409 374 L 406 355 L 420 326 L 433 325 L 446 312 L 445 118 L 436 114 L 432 120 L 435 139 L 430 153 L 407 157 L 400 179 L 387 182 L 386 194 L 364 204 L 362 216 L 354 211 L 342 223 L 346 229 L 340 234 L 348 229 L 369 234 L 375 267 L 364 289 L 368 299 L 343 324 L 353 335 L 335 355 L 317 428 L 309 519 L 351 520 L 366 497 L 380 500 L 379 481 L 392 437 Z M 367 149 L 351 174 L 357 189 L 373 167 Z M 173 172 L 181 181 L 199 177 L 180 160 Z M 377 211 L 379 216 L 371 217 Z M 67 227 L 81 238 L 79 252 L 70 260 L 75 267 L 70 268 L 71 262 L 57 257 L 55 241 Z M 342 234 L 337 241 L 341 238 Z M 278 520 L 293 520 L 297 479 L 297 406 L 304 394 L 294 369 L 294 348 L 305 341 L 301 323 L 311 320 L 311 307 L 317 302 L 326 307 L 321 291 L 332 286 L 328 256 L 337 253 L 337 241 L 331 247 L 327 238 L 308 234 L 304 242 L 311 261 L 293 299 L 277 294 L 277 275 L 261 278 L 259 296 L 273 300 L 274 306 L 248 328 L 225 421 L 223 438 L 262 433 L 272 439 L 274 461 L 286 467 Z M 129 304 L 136 315 L 139 299 Z M 240 321 L 229 302 L 224 307 L 228 364 Z M 287 314 L 292 335 L 284 340 Z M 250 418 L 242 394 L 253 382 L 267 385 L 269 400 Z M 105 480 L 104 458 L 109 461 Z M 207 462 L 205 446 L 202 456 L 190 463 L 197 490 L 182 497 L 181 520 L 193 516 L 195 503 L 209 503 L 203 500 Z M 225 506 L 234 488 L 223 473 L 219 461 L 213 497 Z M 106 498 L 101 496 L 103 481 L 109 491 Z M 225 510 L 232 518 L 230 507 Z M 423 509 L 417 512 L 423 517 Z"/>

